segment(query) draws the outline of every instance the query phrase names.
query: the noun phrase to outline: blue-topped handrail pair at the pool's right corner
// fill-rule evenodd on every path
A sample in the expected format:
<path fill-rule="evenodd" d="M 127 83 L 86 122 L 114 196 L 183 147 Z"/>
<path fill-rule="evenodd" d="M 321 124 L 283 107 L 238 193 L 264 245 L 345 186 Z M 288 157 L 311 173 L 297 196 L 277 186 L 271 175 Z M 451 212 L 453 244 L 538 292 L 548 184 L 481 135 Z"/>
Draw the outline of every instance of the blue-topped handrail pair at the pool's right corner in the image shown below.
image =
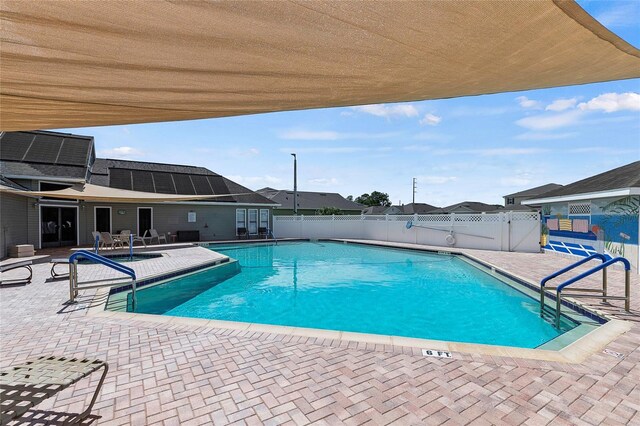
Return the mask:
<path fill-rule="evenodd" d="M 553 278 L 556 278 L 566 272 L 571 271 L 574 268 L 577 268 L 580 265 L 583 265 L 590 260 L 598 259 L 602 263 L 597 265 L 586 272 L 583 272 L 580 275 L 577 275 L 573 278 L 570 278 L 564 281 L 557 287 L 546 287 L 548 281 Z M 609 296 L 607 294 L 607 268 L 614 263 L 622 263 L 625 269 L 625 277 L 624 277 L 624 296 Z M 590 275 L 595 274 L 598 271 L 602 271 L 602 289 L 594 289 L 594 288 L 576 288 L 569 287 L 571 284 L 580 281 L 583 278 L 586 278 Z M 569 288 L 567 288 L 569 287 Z M 567 290 L 565 291 L 565 288 Z M 624 300 L 624 309 L 629 312 L 630 309 L 630 301 L 631 301 L 631 264 L 624 257 L 616 257 L 610 260 L 600 253 L 592 254 L 589 257 L 585 257 L 573 263 L 566 268 L 560 269 L 559 271 L 554 272 L 553 274 L 545 277 L 540 281 L 540 316 L 544 317 L 544 314 L 547 313 L 545 310 L 544 298 L 545 298 L 545 289 L 546 290 L 555 290 L 556 291 L 556 307 L 554 315 L 554 325 L 556 328 L 560 328 L 560 315 L 562 309 L 562 298 L 563 297 L 571 297 L 571 298 L 593 298 L 593 299 L 602 299 L 603 301 L 607 300 Z M 568 293 L 567 293 L 568 292 Z M 595 293 L 595 294 L 594 294 Z"/>

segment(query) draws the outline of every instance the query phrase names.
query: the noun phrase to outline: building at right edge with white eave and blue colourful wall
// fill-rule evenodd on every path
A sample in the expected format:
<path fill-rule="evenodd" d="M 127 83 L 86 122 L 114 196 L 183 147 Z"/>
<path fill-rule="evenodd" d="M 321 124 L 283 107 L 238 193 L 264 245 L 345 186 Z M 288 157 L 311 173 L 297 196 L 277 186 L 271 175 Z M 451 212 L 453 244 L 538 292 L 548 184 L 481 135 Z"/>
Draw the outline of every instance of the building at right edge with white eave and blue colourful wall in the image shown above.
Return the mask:
<path fill-rule="evenodd" d="M 545 252 L 625 257 L 638 271 L 640 161 L 522 202 L 540 206 Z"/>

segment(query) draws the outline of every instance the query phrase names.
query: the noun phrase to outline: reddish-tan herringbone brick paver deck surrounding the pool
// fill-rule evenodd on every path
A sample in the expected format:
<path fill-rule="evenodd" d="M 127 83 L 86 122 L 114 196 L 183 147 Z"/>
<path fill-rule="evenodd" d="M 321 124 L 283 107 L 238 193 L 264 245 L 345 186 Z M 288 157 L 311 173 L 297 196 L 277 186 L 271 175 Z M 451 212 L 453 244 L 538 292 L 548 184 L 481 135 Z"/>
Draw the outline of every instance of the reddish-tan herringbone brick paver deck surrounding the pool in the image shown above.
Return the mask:
<path fill-rule="evenodd" d="M 551 254 L 460 251 L 533 282 L 572 263 Z M 130 265 L 149 276 L 217 259 L 201 247 L 165 254 Z M 81 281 L 112 276 L 99 266 L 79 268 Z M 31 284 L 0 289 L 0 367 L 41 354 L 106 360 L 109 374 L 94 407 L 98 424 L 640 424 L 637 274 L 630 314 L 622 301 L 591 303 L 630 321 L 631 329 L 607 345 L 623 358 L 598 351 L 567 364 L 469 353 L 431 358 L 419 347 L 229 330 L 213 322 L 123 321 L 89 313 L 92 291 L 65 305 L 68 280 L 51 281 L 49 269 L 34 265 Z M 597 287 L 599 279 L 585 282 Z M 609 290 L 622 294 L 622 270 L 609 271 Z M 31 418 L 81 412 L 97 381 L 61 392 Z"/>

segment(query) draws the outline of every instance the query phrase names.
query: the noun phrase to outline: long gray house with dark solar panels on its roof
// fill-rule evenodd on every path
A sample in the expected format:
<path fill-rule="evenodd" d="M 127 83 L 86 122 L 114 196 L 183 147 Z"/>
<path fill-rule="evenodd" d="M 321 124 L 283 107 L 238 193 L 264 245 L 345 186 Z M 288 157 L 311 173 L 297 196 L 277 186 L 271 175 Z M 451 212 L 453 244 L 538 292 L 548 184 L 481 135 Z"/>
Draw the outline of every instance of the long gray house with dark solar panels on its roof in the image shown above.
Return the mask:
<path fill-rule="evenodd" d="M 168 242 L 258 236 L 278 206 L 204 167 L 96 158 L 93 137 L 49 131 L 0 133 L 0 188 L 0 257 L 17 244 L 91 244 L 93 231 L 155 229 Z M 42 195 L 67 188 L 78 198 Z"/>

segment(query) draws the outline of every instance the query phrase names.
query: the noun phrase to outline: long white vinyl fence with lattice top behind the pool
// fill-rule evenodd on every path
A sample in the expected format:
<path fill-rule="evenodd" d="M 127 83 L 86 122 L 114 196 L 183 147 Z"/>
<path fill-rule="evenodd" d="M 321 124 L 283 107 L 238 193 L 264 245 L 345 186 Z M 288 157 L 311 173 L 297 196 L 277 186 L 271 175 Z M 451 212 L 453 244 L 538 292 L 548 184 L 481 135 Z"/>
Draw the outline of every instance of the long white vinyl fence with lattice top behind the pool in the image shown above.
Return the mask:
<path fill-rule="evenodd" d="M 484 250 L 540 251 L 537 212 L 273 216 L 273 233 L 276 238 L 351 238 Z"/>

